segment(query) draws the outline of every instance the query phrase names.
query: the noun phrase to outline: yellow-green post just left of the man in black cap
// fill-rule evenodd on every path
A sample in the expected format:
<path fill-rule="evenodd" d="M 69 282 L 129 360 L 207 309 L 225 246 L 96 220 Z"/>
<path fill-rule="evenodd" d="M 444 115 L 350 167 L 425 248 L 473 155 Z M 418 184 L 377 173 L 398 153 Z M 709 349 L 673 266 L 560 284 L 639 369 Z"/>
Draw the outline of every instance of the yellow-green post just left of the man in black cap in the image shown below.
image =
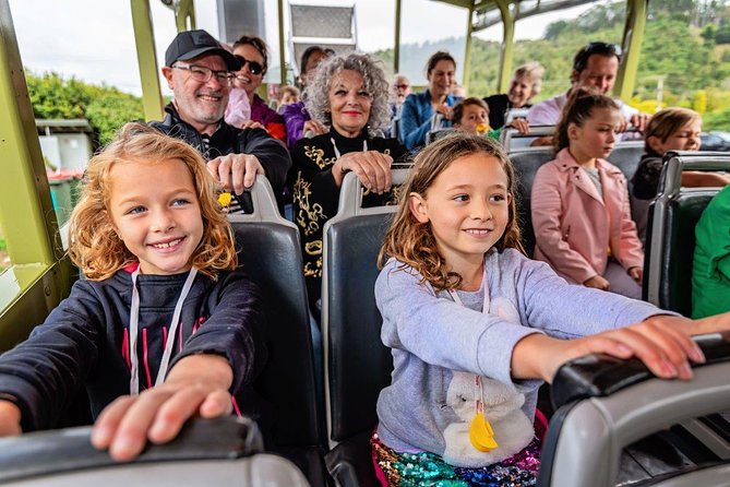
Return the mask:
<path fill-rule="evenodd" d="M 159 75 L 157 74 L 157 56 L 155 55 L 155 35 L 152 29 L 149 0 L 131 0 L 131 2 L 136 58 L 140 64 L 140 79 L 142 80 L 144 117 L 146 120 L 161 120 L 163 96 L 159 92 Z"/>

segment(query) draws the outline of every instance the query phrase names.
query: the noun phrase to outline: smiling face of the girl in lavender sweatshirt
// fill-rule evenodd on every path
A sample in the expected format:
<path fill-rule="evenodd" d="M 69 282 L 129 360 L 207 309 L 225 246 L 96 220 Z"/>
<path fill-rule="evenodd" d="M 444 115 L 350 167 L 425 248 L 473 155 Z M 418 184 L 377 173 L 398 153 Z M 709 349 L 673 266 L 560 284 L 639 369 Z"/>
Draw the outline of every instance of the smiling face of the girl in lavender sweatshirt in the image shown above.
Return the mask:
<path fill-rule="evenodd" d="M 409 195 L 409 209 L 429 223 L 439 253 L 462 275 L 481 265 L 510 219 L 507 175 L 496 157 L 484 153 L 455 159 L 431 183 L 426 198 Z"/>

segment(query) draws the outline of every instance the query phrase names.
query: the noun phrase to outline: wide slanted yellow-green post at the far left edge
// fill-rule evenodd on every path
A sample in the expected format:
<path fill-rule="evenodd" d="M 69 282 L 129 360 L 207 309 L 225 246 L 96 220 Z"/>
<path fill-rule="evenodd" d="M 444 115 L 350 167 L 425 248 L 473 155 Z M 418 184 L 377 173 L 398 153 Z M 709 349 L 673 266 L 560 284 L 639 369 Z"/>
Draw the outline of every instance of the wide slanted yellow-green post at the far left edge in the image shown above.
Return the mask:
<path fill-rule="evenodd" d="M 56 214 L 9 0 L 0 0 L 0 222 L 14 265 L 55 262 Z"/>

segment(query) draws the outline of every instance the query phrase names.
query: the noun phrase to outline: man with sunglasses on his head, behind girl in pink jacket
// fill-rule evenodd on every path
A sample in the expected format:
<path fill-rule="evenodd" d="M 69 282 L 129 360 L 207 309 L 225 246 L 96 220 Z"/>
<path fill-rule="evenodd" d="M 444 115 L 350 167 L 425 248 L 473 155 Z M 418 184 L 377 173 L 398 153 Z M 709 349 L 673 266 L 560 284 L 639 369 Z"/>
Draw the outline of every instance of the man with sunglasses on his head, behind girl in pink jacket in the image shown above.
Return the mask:
<path fill-rule="evenodd" d="M 561 118 L 563 107 L 571 93 L 579 87 L 594 87 L 602 95 L 610 96 L 621 62 L 621 48 L 613 44 L 589 43 L 573 59 L 571 87 L 562 95 L 540 102 L 530 108 L 527 121 L 530 126 L 554 126 Z M 617 132 L 624 132 L 631 126 L 643 131 L 648 116 L 630 107 L 620 99 L 615 100 L 620 109 Z M 553 145 L 552 136 L 540 138 L 532 145 Z"/>

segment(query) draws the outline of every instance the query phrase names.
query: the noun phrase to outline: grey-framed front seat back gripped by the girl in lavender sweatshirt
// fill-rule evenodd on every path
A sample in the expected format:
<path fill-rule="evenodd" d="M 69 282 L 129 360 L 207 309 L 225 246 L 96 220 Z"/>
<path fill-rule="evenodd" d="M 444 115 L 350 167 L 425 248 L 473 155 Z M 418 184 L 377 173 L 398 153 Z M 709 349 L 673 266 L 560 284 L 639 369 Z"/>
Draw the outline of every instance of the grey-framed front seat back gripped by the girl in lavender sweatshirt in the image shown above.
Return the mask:
<path fill-rule="evenodd" d="M 553 394 L 561 390 L 559 395 L 571 402 L 561 406 L 550 421 L 538 486 L 613 487 L 620 467 L 629 466 L 621 455 L 624 447 L 677 423 L 727 411 L 730 335 L 704 335 L 695 341 L 707 363 L 694 368 L 691 381 L 658 379 L 635 358 L 620 360 L 589 355 L 563 365 L 552 390 Z M 715 465 L 665 474 L 668 466 L 665 464 L 658 472 L 629 473 L 660 475 L 641 485 L 726 485 L 730 472 L 729 447 L 721 439 L 708 446 L 722 459 Z M 705 475 L 698 476 L 703 467 L 707 468 Z"/>

